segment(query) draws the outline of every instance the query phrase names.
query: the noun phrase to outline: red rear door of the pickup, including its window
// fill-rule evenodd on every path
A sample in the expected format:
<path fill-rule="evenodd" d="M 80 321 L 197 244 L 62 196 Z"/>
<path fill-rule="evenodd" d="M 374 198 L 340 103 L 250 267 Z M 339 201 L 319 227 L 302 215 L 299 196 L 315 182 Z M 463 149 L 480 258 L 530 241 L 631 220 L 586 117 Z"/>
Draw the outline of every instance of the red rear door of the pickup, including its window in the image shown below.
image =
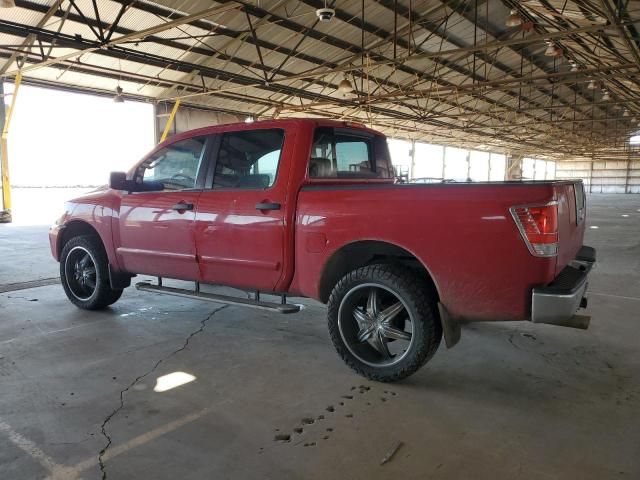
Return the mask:
<path fill-rule="evenodd" d="M 288 172 L 283 129 L 217 135 L 196 212 L 202 281 L 273 290 L 283 273 Z"/>

